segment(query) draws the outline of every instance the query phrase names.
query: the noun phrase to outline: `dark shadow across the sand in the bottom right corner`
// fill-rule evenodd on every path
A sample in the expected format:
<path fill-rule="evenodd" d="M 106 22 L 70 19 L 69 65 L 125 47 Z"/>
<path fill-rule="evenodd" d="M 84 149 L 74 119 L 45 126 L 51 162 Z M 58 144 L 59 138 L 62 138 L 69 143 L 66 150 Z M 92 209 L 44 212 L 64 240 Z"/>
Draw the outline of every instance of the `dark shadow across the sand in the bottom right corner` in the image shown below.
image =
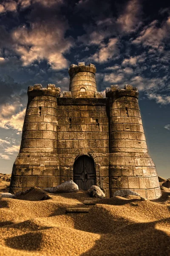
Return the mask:
<path fill-rule="evenodd" d="M 167 220 L 170 224 L 170 218 Z M 101 234 L 94 247 L 81 256 L 170 255 L 170 237 L 156 229 L 158 222 L 130 224 L 112 234 Z"/>

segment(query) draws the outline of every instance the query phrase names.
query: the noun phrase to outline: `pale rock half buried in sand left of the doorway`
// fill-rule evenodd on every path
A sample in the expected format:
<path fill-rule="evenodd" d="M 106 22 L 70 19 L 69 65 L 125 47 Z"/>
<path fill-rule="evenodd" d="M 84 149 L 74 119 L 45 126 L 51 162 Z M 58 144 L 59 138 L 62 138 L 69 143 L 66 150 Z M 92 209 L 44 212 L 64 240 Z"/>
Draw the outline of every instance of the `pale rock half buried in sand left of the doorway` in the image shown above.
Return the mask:
<path fill-rule="evenodd" d="M 44 190 L 50 193 L 70 193 L 70 192 L 79 191 L 79 187 L 77 186 L 76 183 L 74 183 L 73 180 L 68 180 L 54 188 L 47 188 Z"/>

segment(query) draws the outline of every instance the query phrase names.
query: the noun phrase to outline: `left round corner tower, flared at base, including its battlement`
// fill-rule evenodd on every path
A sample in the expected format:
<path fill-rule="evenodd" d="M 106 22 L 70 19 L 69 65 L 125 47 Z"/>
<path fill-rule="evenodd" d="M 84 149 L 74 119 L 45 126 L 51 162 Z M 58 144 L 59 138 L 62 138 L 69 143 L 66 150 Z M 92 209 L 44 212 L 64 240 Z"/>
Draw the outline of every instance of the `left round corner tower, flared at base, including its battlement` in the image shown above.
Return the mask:
<path fill-rule="evenodd" d="M 28 104 L 20 152 L 14 162 L 9 192 L 33 186 L 53 187 L 58 174 L 57 97 L 60 88 L 48 84 L 28 87 Z M 56 177 L 58 179 L 58 177 Z"/>

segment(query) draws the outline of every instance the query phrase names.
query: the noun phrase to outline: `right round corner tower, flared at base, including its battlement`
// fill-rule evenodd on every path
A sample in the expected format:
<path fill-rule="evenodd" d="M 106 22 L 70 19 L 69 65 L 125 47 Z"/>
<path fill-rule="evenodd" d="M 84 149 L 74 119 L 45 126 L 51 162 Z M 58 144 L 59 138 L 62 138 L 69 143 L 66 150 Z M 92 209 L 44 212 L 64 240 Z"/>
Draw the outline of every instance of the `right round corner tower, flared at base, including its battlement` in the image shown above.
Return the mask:
<path fill-rule="evenodd" d="M 130 189 L 147 199 L 161 196 L 155 164 L 148 154 L 138 104 L 139 91 L 132 85 L 106 88 L 110 118 L 110 193 Z"/>

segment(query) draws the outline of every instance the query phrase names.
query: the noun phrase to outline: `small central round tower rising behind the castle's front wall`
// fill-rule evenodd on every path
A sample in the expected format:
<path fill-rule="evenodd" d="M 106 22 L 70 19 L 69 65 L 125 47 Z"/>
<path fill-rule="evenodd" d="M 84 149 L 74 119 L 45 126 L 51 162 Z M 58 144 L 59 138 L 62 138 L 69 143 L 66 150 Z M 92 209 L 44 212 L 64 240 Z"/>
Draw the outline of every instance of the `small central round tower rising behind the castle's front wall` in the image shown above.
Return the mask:
<path fill-rule="evenodd" d="M 68 70 L 70 75 L 69 91 L 72 97 L 94 98 L 96 88 L 96 67 L 93 64 L 85 66 L 79 62 L 78 66 L 72 64 Z"/>

